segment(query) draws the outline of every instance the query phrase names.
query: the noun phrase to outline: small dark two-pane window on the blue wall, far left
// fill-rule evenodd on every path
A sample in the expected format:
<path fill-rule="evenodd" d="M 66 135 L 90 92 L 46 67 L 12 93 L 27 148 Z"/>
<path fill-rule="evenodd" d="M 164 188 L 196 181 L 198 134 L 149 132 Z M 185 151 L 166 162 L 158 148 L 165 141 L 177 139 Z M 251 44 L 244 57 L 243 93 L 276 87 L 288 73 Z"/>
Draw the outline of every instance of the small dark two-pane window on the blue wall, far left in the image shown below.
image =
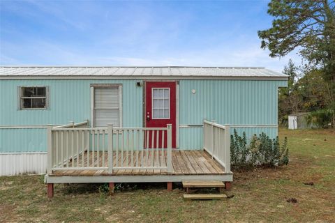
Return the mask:
<path fill-rule="evenodd" d="M 20 86 L 20 109 L 47 109 L 47 86 Z"/>

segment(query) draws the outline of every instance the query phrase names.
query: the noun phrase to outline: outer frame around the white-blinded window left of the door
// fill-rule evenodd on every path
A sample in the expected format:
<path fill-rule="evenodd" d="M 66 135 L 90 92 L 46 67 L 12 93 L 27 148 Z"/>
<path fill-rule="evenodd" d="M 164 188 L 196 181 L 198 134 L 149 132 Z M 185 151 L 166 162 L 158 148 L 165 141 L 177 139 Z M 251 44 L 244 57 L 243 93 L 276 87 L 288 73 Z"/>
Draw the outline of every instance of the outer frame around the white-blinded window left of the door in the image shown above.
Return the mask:
<path fill-rule="evenodd" d="M 91 84 L 91 127 L 96 127 L 94 123 L 95 116 L 95 102 L 94 102 L 94 89 L 119 89 L 119 128 L 123 127 L 122 116 L 122 84 Z"/>

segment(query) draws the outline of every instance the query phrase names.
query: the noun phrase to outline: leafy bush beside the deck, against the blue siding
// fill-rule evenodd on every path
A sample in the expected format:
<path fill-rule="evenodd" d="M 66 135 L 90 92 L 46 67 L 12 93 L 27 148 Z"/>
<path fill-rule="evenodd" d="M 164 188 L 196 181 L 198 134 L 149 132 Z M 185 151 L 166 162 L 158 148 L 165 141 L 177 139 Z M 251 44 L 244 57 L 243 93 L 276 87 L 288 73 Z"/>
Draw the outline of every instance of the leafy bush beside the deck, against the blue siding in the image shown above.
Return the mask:
<path fill-rule="evenodd" d="M 283 145 L 279 145 L 278 137 L 270 139 L 267 134 L 253 135 L 250 143 L 246 133 L 242 137 L 234 130 L 230 136 L 230 156 L 234 169 L 248 169 L 254 166 L 276 167 L 288 164 L 288 139 L 285 137 Z"/>

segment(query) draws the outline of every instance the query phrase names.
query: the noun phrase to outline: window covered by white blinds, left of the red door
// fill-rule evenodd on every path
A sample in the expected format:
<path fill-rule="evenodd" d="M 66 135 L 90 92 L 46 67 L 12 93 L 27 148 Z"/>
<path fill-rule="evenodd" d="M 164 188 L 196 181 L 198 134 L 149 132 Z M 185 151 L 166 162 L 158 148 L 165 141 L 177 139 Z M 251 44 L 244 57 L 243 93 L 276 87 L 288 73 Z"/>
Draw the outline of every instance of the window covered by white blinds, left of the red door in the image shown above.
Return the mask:
<path fill-rule="evenodd" d="M 120 126 L 119 88 L 94 89 L 94 126 Z"/>

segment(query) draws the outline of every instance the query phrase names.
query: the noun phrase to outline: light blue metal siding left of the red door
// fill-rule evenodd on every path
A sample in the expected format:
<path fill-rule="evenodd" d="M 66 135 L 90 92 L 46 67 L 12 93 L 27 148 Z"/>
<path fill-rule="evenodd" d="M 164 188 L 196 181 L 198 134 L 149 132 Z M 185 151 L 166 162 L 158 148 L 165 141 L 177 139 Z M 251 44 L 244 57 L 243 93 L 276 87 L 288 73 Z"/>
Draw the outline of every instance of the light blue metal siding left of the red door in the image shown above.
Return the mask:
<path fill-rule="evenodd" d="M 0 125 L 61 125 L 90 119 L 90 84 L 122 84 L 123 125 L 142 126 L 142 88 L 136 80 L 94 79 L 1 80 Z M 49 86 L 49 109 L 18 109 L 17 86 Z M 0 153 L 46 151 L 45 129 L 0 129 L 0 140 Z"/>

